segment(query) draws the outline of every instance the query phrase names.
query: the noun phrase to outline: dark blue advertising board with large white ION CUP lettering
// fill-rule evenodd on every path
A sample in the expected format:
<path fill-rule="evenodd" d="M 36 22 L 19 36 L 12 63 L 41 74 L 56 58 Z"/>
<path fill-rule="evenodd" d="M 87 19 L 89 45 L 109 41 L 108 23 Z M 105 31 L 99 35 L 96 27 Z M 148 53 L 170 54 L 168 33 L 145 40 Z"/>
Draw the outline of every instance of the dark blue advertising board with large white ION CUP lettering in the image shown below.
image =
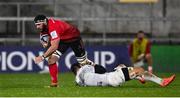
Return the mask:
<path fill-rule="evenodd" d="M 88 58 L 112 71 L 118 64 L 130 65 L 126 46 L 89 46 L 86 47 Z M 0 72 L 40 72 L 48 69 L 47 61 L 36 65 L 35 56 L 42 55 L 41 47 L 8 46 L 0 47 Z M 76 62 L 74 53 L 69 49 L 59 60 L 60 72 L 67 72 Z"/>

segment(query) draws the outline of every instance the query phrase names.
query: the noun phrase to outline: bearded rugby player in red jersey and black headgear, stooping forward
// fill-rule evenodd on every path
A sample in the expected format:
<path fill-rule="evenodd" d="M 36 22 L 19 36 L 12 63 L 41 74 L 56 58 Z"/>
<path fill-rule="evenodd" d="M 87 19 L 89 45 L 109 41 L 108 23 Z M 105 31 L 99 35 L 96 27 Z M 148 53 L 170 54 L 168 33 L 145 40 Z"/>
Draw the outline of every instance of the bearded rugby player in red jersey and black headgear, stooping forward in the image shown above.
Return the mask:
<path fill-rule="evenodd" d="M 38 64 L 48 57 L 48 66 L 51 75 L 50 87 L 58 86 L 58 67 L 56 63 L 58 58 L 53 54 L 60 57 L 71 47 L 81 66 L 91 62 L 87 59 L 87 53 L 80 37 L 80 32 L 76 27 L 62 20 L 48 19 L 45 15 L 37 15 L 34 18 L 34 23 L 37 30 L 40 31 L 40 35 L 47 34 L 49 36 L 49 43 L 45 45 L 47 50 L 43 55 L 35 57 L 34 60 Z"/>

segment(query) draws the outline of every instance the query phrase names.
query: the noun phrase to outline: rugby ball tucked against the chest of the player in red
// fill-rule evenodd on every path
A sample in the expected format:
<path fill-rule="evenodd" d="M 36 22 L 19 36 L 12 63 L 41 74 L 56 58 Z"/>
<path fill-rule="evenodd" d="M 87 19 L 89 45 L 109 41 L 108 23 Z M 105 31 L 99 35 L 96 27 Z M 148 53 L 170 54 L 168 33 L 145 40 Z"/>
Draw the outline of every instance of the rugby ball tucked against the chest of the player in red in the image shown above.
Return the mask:
<path fill-rule="evenodd" d="M 49 35 L 48 34 L 41 34 L 40 35 L 40 42 L 44 48 L 49 46 Z"/>

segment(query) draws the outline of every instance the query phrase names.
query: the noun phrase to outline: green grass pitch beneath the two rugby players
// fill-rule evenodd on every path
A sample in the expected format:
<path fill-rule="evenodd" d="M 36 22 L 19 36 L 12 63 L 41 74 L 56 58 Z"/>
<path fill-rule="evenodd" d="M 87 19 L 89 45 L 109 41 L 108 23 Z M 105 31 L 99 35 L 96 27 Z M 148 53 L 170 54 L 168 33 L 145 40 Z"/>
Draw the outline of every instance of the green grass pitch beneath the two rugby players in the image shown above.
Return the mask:
<path fill-rule="evenodd" d="M 158 73 L 160 77 L 170 76 L 172 73 Z M 0 74 L 0 96 L 24 97 L 170 97 L 180 96 L 180 73 L 169 86 L 147 82 L 141 84 L 132 80 L 120 87 L 79 87 L 74 84 L 72 73 L 59 74 L 59 88 L 44 88 L 49 85 L 49 74 Z"/>

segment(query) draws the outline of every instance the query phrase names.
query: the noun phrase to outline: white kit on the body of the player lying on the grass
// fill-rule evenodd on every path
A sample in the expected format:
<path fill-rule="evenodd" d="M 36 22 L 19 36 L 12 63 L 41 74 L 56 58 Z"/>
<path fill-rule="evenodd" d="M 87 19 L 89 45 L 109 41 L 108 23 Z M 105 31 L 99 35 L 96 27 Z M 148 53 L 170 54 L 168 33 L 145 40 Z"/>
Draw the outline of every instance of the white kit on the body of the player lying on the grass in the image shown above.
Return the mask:
<path fill-rule="evenodd" d="M 125 82 L 122 70 L 97 74 L 94 66 L 82 66 L 76 75 L 76 83 L 80 86 L 119 86 Z"/>

